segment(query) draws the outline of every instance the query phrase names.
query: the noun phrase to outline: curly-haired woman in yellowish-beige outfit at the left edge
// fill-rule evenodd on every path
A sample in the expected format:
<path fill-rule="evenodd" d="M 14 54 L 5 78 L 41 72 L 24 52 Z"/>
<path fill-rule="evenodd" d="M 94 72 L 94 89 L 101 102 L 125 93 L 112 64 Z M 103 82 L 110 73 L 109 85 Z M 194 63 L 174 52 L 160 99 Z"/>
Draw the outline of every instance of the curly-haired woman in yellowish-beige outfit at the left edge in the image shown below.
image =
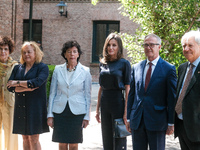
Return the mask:
<path fill-rule="evenodd" d="M 6 84 L 17 62 L 10 54 L 14 42 L 7 36 L 0 37 L 0 150 L 17 150 L 18 137 L 12 134 L 15 97 L 7 90 Z M 4 128 L 4 148 L 2 149 L 2 127 Z"/>

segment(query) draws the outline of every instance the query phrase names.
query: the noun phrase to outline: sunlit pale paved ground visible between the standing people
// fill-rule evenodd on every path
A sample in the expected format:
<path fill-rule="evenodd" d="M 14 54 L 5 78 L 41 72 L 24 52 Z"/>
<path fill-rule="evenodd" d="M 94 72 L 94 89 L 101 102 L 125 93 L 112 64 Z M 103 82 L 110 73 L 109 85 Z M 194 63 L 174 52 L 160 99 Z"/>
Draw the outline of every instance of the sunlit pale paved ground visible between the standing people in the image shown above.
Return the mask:
<path fill-rule="evenodd" d="M 92 110 L 90 125 L 83 131 L 83 143 L 79 150 L 103 150 L 101 138 L 101 125 L 95 119 L 98 84 L 92 85 Z M 42 150 L 58 150 L 58 144 L 51 141 L 52 129 L 49 133 L 40 136 Z M 132 150 L 131 136 L 127 138 L 127 150 Z M 19 135 L 19 150 L 22 150 L 22 138 Z M 180 150 L 178 139 L 174 140 L 173 135 L 166 138 L 166 150 Z"/>

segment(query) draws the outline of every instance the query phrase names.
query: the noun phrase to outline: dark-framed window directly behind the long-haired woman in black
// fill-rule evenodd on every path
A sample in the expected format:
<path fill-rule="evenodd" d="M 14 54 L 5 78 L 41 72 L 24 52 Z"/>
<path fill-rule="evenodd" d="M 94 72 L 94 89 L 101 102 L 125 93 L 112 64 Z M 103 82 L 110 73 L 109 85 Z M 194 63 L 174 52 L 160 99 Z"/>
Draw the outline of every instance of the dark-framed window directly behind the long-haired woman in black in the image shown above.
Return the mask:
<path fill-rule="evenodd" d="M 102 57 L 105 39 L 112 32 L 119 32 L 119 21 L 94 21 L 92 63 L 98 63 Z"/>

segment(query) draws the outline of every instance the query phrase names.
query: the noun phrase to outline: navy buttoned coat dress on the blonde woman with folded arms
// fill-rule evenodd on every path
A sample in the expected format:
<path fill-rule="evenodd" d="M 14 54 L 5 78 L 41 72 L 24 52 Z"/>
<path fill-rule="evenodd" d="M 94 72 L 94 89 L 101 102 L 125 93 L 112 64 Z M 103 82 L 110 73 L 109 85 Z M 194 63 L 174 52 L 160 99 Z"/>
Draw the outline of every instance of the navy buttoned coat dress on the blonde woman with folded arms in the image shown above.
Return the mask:
<path fill-rule="evenodd" d="M 26 65 L 16 65 L 9 80 L 27 80 L 34 91 L 15 92 L 15 87 L 8 88 L 15 92 L 13 133 L 32 135 L 48 132 L 46 82 L 49 68 L 44 63 L 34 64 L 25 74 Z"/>

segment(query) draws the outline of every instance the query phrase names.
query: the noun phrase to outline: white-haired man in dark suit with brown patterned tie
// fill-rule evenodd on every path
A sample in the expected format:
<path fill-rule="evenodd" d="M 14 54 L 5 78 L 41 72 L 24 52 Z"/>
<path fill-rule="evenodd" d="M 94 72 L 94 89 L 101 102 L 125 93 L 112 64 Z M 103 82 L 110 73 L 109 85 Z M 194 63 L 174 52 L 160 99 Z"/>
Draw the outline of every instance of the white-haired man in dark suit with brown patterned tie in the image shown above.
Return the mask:
<path fill-rule="evenodd" d="M 175 137 L 182 150 L 200 150 L 200 32 L 186 33 L 181 44 L 188 62 L 178 68 Z"/>

